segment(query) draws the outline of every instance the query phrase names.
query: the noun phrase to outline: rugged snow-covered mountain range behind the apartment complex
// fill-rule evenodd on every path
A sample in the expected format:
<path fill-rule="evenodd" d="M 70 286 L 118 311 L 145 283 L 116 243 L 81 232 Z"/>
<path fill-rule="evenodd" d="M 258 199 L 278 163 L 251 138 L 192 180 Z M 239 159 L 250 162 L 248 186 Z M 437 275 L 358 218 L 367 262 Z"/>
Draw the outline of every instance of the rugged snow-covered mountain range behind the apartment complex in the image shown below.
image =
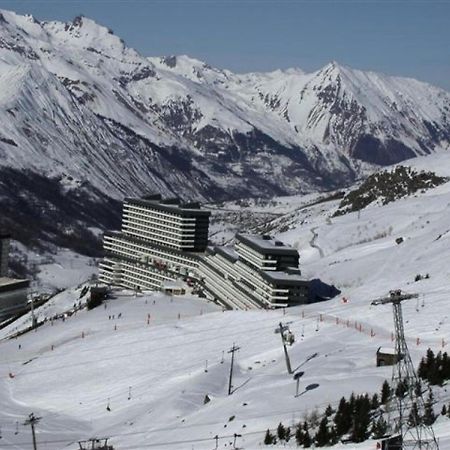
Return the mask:
<path fill-rule="evenodd" d="M 20 202 L 45 217 L 65 198 L 81 224 L 94 205 L 148 191 L 223 200 L 348 184 L 447 148 L 450 94 L 337 63 L 238 75 L 146 58 L 85 17 L 2 11 L 0 121 L 6 215 L 22 223 Z M 109 211 L 89 224 L 111 224 Z"/>

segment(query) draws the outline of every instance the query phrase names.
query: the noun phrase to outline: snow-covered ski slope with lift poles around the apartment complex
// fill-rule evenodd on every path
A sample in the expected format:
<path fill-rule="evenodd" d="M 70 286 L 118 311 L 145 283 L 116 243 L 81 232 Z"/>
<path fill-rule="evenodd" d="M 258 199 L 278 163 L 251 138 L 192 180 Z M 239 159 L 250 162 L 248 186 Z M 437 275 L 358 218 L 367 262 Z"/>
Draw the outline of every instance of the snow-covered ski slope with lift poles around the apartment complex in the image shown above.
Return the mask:
<path fill-rule="evenodd" d="M 450 175 L 449 157 L 414 161 Z M 446 172 L 447 171 L 447 172 Z M 353 391 L 379 392 L 390 367 L 376 367 L 378 347 L 391 347 L 392 310 L 371 306 L 390 289 L 419 293 L 404 303 L 405 333 L 415 363 L 431 347 L 449 350 L 450 183 L 386 206 L 331 218 L 338 201 L 309 208 L 296 200 L 279 238 L 299 248 L 308 278 L 335 284 L 333 300 L 283 311 L 226 311 L 195 297 L 122 293 L 92 311 L 47 321 L 36 332 L 6 339 L 28 317 L 0 331 L 0 448 L 31 449 L 34 412 L 38 448 L 77 449 L 78 440 L 110 437 L 125 449 L 242 449 L 265 447 L 267 428 L 294 425 L 305 414 Z M 402 237 L 401 244 L 396 239 Z M 415 282 L 416 275 L 429 274 Z M 38 311 L 50 318 L 77 304 L 65 291 Z M 342 298 L 348 302 L 344 303 Z M 119 318 L 119 315 L 121 317 Z M 301 395 L 286 370 L 280 335 L 288 322 L 296 342 L 292 366 L 304 371 Z M 230 354 L 235 359 L 228 395 Z M 316 389 L 306 390 L 311 384 Z M 210 401 L 204 403 L 205 396 Z M 447 388 L 436 389 L 439 413 Z M 18 425 L 17 425 L 18 423 Z M 18 434 L 16 433 L 18 427 Z M 440 448 L 450 449 L 450 420 L 435 424 Z M 374 441 L 339 449 L 374 449 Z"/>

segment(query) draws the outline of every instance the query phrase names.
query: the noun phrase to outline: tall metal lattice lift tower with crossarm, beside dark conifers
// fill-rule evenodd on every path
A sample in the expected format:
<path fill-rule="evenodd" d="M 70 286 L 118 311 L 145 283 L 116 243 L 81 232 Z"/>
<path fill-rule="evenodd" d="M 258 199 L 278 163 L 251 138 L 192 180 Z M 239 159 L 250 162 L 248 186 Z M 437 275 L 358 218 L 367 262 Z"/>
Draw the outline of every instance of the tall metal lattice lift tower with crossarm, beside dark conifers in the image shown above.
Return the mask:
<path fill-rule="evenodd" d="M 439 450 L 433 428 L 423 423 L 424 400 L 419 379 L 414 370 L 406 345 L 403 329 L 402 301 L 417 298 L 418 294 L 407 294 L 400 290 L 390 291 L 388 297 L 372 301 L 372 305 L 392 303 L 394 310 L 395 353 L 397 363 L 392 372 L 392 408 L 389 408 L 389 423 L 393 435 L 383 447 L 391 449 Z"/>

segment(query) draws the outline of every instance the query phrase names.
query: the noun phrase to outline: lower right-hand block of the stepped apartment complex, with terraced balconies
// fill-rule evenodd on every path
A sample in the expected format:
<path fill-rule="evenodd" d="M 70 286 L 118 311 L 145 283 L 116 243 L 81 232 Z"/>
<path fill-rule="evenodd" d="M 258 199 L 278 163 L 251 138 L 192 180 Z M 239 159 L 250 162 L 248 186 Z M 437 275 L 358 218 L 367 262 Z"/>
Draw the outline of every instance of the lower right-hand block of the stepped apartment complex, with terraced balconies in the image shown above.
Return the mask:
<path fill-rule="evenodd" d="M 296 249 L 269 236 L 237 234 L 235 246 L 208 249 L 199 272 L 205 290 L 233 308 L 284 308 L 308 302 Z"/>

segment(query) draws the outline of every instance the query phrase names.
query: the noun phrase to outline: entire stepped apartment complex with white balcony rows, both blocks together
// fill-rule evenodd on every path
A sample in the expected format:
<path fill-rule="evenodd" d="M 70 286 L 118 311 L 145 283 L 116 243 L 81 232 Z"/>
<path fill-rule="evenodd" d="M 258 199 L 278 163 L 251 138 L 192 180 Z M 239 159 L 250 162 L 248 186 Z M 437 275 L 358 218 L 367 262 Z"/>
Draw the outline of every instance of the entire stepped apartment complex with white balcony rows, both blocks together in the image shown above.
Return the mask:
<path fill-rule="evenodd" d="M 237 234 L 234 247 L 210 247 L 210 214 L 177 198 L 126 198 L 121 231 L 104 234 L 100 280 L 135 290 L 193 289 L 229 309 L 308 301 L 296 249 L 249 234 Z"/>

